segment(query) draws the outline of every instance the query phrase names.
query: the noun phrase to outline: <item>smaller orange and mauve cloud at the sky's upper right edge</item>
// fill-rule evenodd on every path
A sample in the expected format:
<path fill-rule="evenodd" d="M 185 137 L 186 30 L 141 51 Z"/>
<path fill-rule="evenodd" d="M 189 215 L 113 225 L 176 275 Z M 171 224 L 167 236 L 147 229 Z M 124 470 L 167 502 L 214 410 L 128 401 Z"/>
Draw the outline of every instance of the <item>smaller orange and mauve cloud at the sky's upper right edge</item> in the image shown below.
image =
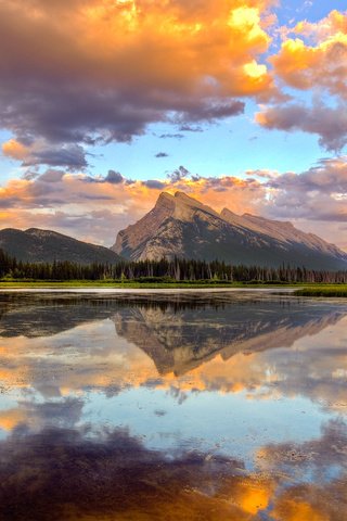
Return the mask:
<path fill-rule="evenodd" d="M 269 62 L 281 90 L 290 87 L 291 96 L 264 106 L 256 122 L 314 134 L 326 150 L 340 151 L 347 143 L 347 13 L 333 10 L 321 21 L 301 21 L 280 33 L 280 51 Z M 301 101 L 300 92 L 311 101 Z"/>

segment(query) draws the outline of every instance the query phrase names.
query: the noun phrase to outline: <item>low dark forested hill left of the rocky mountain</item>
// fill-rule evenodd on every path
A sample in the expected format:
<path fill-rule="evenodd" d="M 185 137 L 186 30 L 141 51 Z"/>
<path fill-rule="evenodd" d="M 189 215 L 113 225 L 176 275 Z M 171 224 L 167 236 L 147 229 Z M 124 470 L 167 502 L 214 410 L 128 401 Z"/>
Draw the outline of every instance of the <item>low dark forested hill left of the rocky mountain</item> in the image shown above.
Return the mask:
<path fill-rule="evenodd" d="M 97 246 L 51 230 L 14 228 L 0 230 L 0 249 L 18 260 L 52 263 L 69 260 L 79 264 L 116 263 L 119 256 L 108 247 Z"/>

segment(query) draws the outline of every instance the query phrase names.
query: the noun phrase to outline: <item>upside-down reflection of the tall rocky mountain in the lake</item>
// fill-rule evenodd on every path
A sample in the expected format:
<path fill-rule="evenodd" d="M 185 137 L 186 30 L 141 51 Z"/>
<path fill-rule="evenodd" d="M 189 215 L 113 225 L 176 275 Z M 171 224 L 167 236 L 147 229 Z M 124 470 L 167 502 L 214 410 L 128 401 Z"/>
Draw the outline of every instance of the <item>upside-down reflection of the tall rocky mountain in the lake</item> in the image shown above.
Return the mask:
<path fill-rule="evenodd" d="M 298 301 L 229 302 L 172 313 L 141 306 L 119 309 L 117 334 L 153 358 L 160 374 L 185 373 L 219 354 L 223 360 L 236 353 L 290 347 L 305 336 L 336 323 L 346 310 Z"/>

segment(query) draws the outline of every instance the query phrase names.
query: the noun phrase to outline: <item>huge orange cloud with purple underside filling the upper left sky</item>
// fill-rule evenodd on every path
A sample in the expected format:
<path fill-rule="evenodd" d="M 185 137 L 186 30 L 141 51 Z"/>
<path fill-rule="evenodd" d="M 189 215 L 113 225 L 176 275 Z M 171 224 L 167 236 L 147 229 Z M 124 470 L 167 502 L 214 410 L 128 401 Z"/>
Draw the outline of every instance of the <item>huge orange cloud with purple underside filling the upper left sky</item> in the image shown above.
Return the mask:
<path fill-rule="evenodd" d="M 271 42 L 261 16 L 271 4 L 1 2 L 2 127 L 22 145 L 47 142 L 51 151 L 33 151 L 29 164 L 77 167 L 81 150 L 72 144 L 128 142 L 156 122 L 239 115 L 244 102 L 237 98 L 274 92 L 260 63 Z"/>

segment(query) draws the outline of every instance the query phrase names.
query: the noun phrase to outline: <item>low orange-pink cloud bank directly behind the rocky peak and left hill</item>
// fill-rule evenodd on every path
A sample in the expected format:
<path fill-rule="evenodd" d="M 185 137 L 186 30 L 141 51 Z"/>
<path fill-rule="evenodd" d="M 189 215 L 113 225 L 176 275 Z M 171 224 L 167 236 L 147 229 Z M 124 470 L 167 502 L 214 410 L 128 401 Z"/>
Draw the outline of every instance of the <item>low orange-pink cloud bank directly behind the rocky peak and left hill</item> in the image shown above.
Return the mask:
<path fill-rule="evenodd" d="M 256 180 L 233 176 L 193 180 L 166 179 L 129 182 L 116 178 L 91 178 L 85 174 L 48 170 L 34 179 L 12 179 L 0 187 L 0 228 L 43 227 L 77 236 L 82 240 L 113 243 L 116 233 L 149 212 L 163 190 L 183 190 L 217 209 L 256 212 L 265 190 Z M 86 234 L 86 223 L 87 227 Z"/>

